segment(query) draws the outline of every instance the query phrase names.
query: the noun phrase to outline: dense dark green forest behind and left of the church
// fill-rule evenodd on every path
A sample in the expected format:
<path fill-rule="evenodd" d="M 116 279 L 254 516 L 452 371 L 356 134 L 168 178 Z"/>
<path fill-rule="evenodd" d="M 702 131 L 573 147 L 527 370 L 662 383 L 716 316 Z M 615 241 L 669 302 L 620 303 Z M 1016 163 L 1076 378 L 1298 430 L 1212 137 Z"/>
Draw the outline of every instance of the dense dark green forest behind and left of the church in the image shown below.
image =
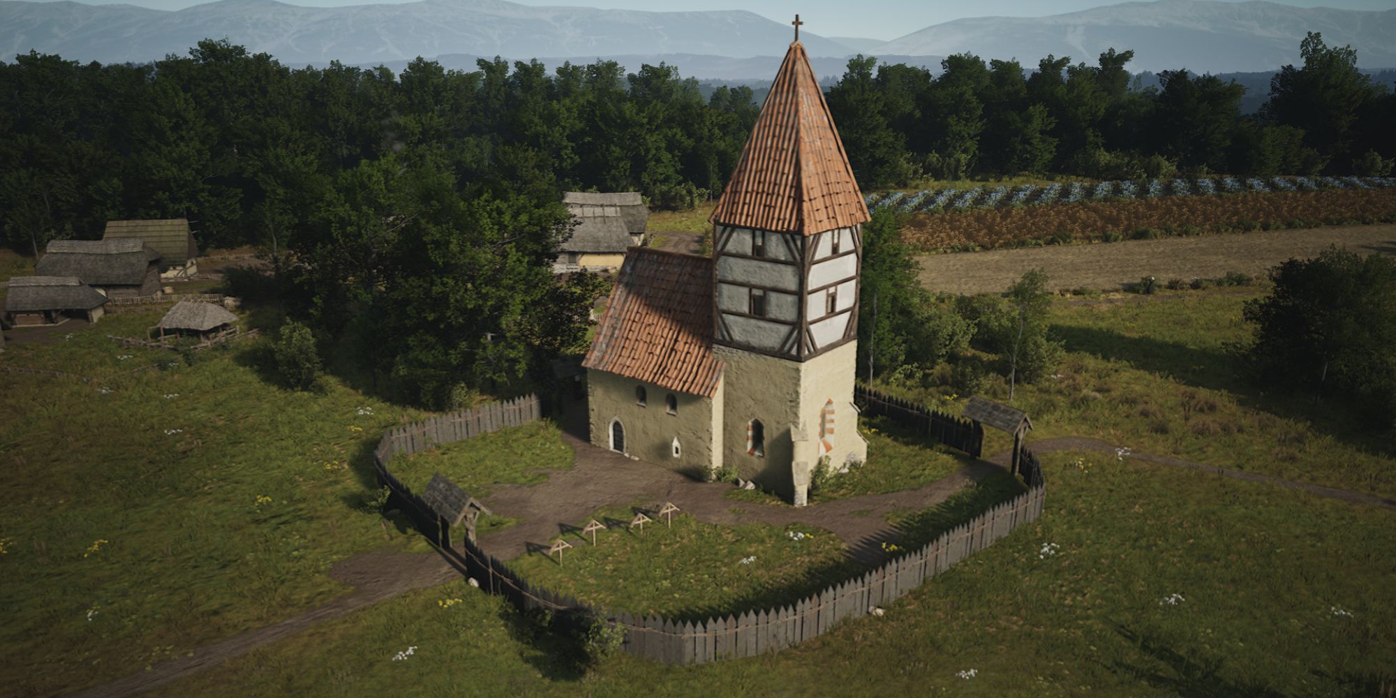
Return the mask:
<path fill-rule="evenodd" d="M 1396 96 L 1356 54 L 1302 43 L 1259 114 L 1244 88 L 1163 73 L 962 54 L 931 75 L 849 61 L 828 91 L 864 188 L 921 177 L 1390 170 Z M 452 405 L 584 346 L 602 285 L 554 282 L 563 190 L 639 190 L 656 207 L 718 195 L 759 112 L 705 98 L 671 66 L 429 60 L 401 74 L 290 68 L 228 40 L 152 64 L 21 54 L 0 64 L 3 242 L 38 254 L 107 219 L 188 218 L 202 247 L 269 253 L 288 311 L 350 346 L 405 398 Z"/>

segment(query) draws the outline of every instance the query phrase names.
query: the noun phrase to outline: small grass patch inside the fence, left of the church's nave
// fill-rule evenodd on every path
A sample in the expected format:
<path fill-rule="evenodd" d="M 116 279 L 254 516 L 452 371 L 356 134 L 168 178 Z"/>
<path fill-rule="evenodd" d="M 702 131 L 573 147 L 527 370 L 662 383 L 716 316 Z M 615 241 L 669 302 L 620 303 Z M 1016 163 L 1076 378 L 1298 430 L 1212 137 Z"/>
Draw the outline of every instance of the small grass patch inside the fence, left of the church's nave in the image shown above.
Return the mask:
<path fill-rule="evenodd" d="M 431 475 L 440 472 L 472 497 L 484 497 L 490 484 L 537 484 L 547 480 L 546 470 L 571 466 L 572 448 L 563 443 L 563 431 L 550 420 L 539 420 L 398 456 L 388 469 L 419 494 Z"/>

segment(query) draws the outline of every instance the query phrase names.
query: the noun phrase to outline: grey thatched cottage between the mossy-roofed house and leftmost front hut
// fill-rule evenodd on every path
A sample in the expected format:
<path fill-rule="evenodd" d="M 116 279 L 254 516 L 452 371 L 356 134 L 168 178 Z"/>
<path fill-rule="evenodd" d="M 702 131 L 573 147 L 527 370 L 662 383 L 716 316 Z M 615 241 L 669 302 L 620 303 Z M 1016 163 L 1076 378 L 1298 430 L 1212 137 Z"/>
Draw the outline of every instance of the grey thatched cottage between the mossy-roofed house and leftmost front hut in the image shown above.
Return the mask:
<path fill-rule="evenodd" d="M 161 292 L 161 254 L 141 240 L 53 240 L 34 271 L 77 276 L 107 297 Z"/>

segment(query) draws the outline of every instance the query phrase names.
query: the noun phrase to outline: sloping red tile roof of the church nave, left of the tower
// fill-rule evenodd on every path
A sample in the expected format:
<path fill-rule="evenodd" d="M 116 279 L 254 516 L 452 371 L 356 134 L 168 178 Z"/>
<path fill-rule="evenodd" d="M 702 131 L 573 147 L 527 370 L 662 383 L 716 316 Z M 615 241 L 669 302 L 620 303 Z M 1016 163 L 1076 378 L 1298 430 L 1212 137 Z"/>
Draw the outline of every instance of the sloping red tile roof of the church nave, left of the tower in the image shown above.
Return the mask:
<path fill-rule="evenodd" d="M 582 366 L 711 398 L 712 260 L 631 247 Z"/>

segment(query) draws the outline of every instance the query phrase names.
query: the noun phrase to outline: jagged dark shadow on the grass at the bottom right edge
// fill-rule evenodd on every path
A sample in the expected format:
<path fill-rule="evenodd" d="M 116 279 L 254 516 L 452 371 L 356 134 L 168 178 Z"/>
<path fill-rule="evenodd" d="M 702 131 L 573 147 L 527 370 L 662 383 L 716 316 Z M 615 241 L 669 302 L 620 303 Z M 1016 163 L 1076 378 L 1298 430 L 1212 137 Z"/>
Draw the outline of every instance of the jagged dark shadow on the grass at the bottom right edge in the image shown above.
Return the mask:
<path fill-rule="evenodd" d="M 1145 655 L 1166 664 L 1170 671 L 1156 671 L 1124 662 L 1115 662 L 1108 669 L 1141 678 L 1154 688 L 1174 692 L 1184 698 L 1222 698 L 1231 695 L 1279 698 L 1284 695 L 1261 681 L 1227 681 L 1219 676 L 1226 663 L 1224 659 L 1201 656 L 1198 652 L 1189 649 L 1175 649 L 1157 637 L 1136 632 L 1127 627 L 1115 627 L 1115 632 Z"/>

